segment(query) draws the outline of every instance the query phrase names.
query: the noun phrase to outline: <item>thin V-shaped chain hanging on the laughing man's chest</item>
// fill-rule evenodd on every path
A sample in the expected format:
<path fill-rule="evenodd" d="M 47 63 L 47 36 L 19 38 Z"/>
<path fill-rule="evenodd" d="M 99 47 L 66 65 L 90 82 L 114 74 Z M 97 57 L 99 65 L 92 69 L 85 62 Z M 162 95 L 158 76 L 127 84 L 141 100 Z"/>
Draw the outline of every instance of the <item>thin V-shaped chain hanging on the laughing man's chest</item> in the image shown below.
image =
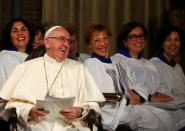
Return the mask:
<path fill-rule="evenodd" d="M 50 87 L 49 87 L 49 84 L 48 84 L 48 77 L 47 77 L 47 72 L 46 72 L 46 63 L 45 63 L 44 57 L 43 57 L 43 62 L 44 62 L 44 72 L 45 72 L 45 76 L 46 76 L 46 84 L 47 84 L 47 89 L 48 89 L 48 93 L 49 93 L 49 91 L 51 90 L 53 84 L 55 83 L 56 79 L 58 78 L 58 76 L 59 76 L 59 74 L 60 74 L 60 72 L 61 72 L 61 70 L 62 70 L 62 68 L 63 68 L 63 66 L 64 66 L 64 64 L 65 64 L 65 61 L 64 61 L 64 63 L 61 65 L 61 67 L 60 67 L 60 69 L 59 69 L 57 75 L 55 76 L 53 82 L 51 83 L 51 86 L 50 86 Z"/>

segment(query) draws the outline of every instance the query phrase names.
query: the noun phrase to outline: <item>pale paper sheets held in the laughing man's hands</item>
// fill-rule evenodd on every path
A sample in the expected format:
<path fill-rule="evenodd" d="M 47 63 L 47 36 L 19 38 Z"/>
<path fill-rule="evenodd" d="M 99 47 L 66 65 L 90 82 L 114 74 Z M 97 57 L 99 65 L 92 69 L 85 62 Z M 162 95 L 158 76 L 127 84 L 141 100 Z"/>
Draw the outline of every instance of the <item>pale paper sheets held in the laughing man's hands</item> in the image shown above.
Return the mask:
<path fill-rule="evenodd" d="M 37 100 L 36 105 L 38 107 L 44 107 L 45 110 L 49 111 L 47 118 L 63 118 L 59 113 L 63 108 L 73 107 L 74 97 L 67 98 L 56 98 L 47 96 L 45 100 Z"/>

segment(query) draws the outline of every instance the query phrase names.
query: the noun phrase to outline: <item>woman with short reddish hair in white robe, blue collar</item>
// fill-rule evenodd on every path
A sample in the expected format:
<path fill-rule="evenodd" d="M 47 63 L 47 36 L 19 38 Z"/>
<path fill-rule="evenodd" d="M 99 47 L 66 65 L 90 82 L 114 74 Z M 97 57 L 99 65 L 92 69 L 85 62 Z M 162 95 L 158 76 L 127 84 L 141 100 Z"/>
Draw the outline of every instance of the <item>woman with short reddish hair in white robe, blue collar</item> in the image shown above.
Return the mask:
<path fill-rule="evenodd" d="M 101 24 L 91 25 L 86 34 L 86 43 L 91 58 L 84 63 L 91 72 L 101 92 L 121 92 L 125 89 L 119 82 L 117 63 L 109 57 L 110 31 Z M 106 130 L 115 130 L 118 125 L 126 124 L 138 131 L 173 130 L 172 121 L 167 112 L 155 107 L 140 105 L 140 97 L 128 90 L 130 102 L 126 97 L 118 103 L 106 102 L 101 108 L 102 124 Z"/>

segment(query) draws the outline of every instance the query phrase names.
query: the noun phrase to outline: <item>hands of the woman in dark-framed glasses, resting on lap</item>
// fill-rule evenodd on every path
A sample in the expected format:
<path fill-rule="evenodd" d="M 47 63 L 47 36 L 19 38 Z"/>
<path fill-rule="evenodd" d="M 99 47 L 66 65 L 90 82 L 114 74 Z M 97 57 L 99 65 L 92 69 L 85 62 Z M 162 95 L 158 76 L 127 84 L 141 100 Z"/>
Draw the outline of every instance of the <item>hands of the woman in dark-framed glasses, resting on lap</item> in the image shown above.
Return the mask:
<path fill-rule="evenodd" d="M 172 100 L 172 97 L 160 92 L 156 92 L 155 94 L 151 95 L 152 102 L 168 102 Z"/>

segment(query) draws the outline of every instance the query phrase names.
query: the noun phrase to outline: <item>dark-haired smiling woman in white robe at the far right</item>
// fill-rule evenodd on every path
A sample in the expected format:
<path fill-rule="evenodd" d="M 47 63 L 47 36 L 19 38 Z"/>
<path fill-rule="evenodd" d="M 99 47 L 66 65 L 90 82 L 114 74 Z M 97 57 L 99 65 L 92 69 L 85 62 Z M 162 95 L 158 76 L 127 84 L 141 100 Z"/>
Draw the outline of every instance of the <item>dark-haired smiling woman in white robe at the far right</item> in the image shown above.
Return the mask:
<path fill-rule="evenodd" d="M 162 28 L 157 36 L 158 53 L 150 61 L 160 76 L 159 88 L 174 100 L 185 101 L 185 76 L 181 66 L 175 61 L 177 54 L 183 49 L 183 32 L 176 26 Z M 178 129 L 185 125 L 185 110 L 169 111 L 177 121 Z"/>

